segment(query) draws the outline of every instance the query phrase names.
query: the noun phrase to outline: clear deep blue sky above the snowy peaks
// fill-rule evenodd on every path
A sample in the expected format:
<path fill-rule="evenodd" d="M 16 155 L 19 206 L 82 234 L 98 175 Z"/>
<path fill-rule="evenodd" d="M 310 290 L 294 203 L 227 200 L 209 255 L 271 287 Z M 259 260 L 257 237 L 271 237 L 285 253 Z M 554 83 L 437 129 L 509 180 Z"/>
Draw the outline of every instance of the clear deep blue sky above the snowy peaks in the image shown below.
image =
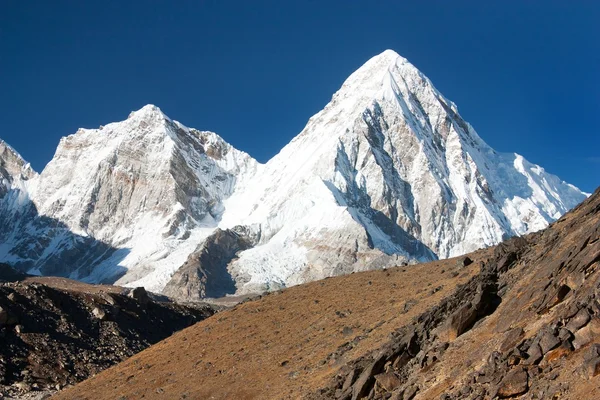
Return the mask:
<path fill-rule="evenodd" d="M 61 136 L 153 103 L 266 161 L 390 48 L 496 150 L 592 191 L 598 21 L 593 0 L 2 0 L 0 137 L 41 171 Z"/>

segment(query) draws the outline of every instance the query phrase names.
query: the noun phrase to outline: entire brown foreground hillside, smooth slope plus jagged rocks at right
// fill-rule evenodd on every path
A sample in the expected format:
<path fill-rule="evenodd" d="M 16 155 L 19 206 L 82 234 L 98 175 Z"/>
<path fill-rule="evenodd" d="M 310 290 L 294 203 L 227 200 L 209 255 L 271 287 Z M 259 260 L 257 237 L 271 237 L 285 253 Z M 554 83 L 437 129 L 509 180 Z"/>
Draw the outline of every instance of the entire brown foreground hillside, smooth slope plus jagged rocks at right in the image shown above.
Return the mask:
<path fill-rule="evenodd" d="M 468 257 L 242 304 L 57 398 L 598 398 L 599 296 L 600 189 Z"/>

